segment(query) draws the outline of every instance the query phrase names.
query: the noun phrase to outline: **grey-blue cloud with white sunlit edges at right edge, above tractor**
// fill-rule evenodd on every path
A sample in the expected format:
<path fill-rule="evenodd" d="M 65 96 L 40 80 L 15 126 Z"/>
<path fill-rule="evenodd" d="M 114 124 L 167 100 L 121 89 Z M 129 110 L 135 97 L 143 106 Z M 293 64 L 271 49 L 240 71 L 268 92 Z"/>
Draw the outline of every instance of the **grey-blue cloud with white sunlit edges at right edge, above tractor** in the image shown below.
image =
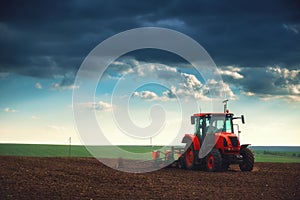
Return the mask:
<path fill-rule="evenodd" d="M 227 67 L 227 69 L 230 68 Z M 235 85 L 246 95 L 300 101 L 300 69 L 290 70 L 279 66 L 261 68 L 231 67 L 231 72 L 225 73 L 223 71 L 223 80 Z M 236 74 L 233 72 L 236 72 Z"/>

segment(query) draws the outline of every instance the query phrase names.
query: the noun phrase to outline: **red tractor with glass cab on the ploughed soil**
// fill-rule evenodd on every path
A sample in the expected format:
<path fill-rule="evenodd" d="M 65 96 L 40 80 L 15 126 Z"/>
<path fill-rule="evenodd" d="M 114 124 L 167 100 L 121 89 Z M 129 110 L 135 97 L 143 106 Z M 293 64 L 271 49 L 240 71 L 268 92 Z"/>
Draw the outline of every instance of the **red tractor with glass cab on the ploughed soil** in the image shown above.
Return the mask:
<path fill-rule="evenodd" d="M 194 134 L 185 134 L 182 140 L 186 144 L 185 153 L 179 158 L 182 168 L 204 168 L 211 172 L 239 164 L 242 171 L 252 171 L 254 155 L 248 148 L 249 144 L 240 145 L 234 134 L 233 121 L 241 119 L 245 123 L 244 116 L 234 117 L 233 113 L 224 110 L 224 113 L 198 113 L 191 117 L 195 131 Z"/>

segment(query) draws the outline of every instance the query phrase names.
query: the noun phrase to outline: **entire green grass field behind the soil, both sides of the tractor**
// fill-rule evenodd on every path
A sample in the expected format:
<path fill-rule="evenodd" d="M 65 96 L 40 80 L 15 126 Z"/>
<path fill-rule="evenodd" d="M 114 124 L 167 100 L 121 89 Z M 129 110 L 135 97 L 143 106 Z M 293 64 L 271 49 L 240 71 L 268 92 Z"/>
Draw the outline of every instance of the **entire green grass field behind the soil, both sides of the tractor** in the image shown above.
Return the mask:
<path fill-rule="evenodd" d="M 90 147 L 96 155 L 101 157 L 118 158 L 120 154 L 112 151 L 111 146 Z M 160 149 L 161 146 L 119 146 L 124 152 L 131 155 L 123 155 L 123 158 L 151 159 L 152 150 Z M 114 152 L 114 153 L 112 153 Z M 137 153 L 137 154 L 134 154 Z M 140 154 L 142 154 L 140 156 Z M 300 163 L 300 152 L 275 152 L 254 150 L 255 162 L 294 162 Z M 0 155 L 6 156 L 33 156 L 33 157 L 92 157 L 84 146 L 68 145 L 41 145 L 41 144 L 0 144 Z"/>

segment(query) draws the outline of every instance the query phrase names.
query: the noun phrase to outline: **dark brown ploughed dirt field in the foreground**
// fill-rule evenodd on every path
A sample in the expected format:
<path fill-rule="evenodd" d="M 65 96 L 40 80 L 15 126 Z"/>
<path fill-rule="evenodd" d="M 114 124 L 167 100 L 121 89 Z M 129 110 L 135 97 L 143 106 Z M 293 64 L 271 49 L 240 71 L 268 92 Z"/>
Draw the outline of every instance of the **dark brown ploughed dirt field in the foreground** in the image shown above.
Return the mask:
<path fill-rule="evenodd" d="M 0 159 L 0 199 L 300 199 L 300 164 L 130 174 L 93 158 Z"/>

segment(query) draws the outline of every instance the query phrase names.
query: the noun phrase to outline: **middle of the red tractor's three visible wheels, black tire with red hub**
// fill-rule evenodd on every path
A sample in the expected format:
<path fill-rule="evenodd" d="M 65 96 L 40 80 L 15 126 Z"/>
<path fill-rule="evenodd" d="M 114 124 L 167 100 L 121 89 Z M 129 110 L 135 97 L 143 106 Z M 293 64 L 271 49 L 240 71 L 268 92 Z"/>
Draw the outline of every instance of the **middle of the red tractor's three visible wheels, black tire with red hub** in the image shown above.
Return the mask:
<path fill-rule="evenodd" d="M 222 156 L 218 149 L 213 149 L 207 156 L 205 162 L 206 171 L 216 172 L 222 168 Z"/>

